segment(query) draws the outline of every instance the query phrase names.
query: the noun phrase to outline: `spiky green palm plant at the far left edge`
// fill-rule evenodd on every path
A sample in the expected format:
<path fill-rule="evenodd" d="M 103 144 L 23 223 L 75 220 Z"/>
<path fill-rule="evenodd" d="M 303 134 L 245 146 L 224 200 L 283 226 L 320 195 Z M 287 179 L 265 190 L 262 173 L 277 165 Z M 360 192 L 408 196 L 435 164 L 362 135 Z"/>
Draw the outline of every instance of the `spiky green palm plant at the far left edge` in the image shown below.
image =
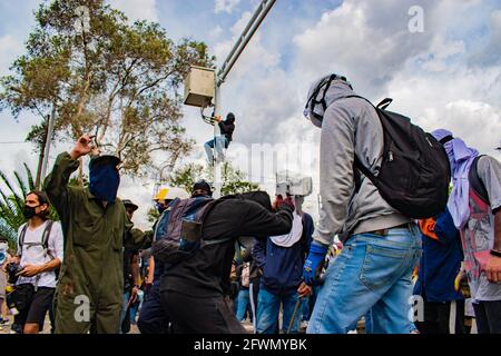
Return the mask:
<path fill-rule="evenodd" d="M 18 171 L 14 171 L 16 184 L 12 185 L 3 171 L 0 171 L 0 182 L 3 184 L 4 189 L 0 189 L 0 235 L 9 239 L 9 246 L 13 248 L 18 238 L 19 227 L 26 222 L 22 215 L 24 207 L 24 198 L 27 194 L 35 190 L 35 181 L 31 170 L 27 164 L 24 165 L 26 180 L 22 179 Z M 59 217 L 50 206 L 49 218 L 51 220 L 59 220 Z"/>

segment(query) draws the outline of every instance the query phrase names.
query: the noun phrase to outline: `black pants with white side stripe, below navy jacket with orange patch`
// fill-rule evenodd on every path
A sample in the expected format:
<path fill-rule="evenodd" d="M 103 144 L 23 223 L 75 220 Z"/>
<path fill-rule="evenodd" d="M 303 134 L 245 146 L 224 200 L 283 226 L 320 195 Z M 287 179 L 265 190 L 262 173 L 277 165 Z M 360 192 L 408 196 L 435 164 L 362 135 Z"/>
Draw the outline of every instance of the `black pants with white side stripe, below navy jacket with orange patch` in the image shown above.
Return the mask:
<path fill-rule="evenodd" d="M 450 329 L 451 301 L 424 301 L 424 322 L 415 322 L 421 334 L 452 334 Z M 465 334 L 464 300 L 455 300 L 454 334 Z"/>

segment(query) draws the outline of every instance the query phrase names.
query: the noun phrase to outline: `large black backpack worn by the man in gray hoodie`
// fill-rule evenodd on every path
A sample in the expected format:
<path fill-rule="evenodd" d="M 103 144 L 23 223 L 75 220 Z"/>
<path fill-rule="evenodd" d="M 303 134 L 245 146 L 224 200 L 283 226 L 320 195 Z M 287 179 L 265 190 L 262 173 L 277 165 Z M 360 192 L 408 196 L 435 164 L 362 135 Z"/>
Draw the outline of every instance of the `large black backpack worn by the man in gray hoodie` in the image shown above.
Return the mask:
<path fill-rule="evenodd" d="M 367 99 L 357 97 L 369 101 Z M 370 102 L 370 101 L 369 101 Z M 383 161 L 374 176 L 355 156 L 355 167 L 377 187 L 381 196 L 402 215 L 425 219 L 448 202 L 451 169 L 443 146 L 411 119 L 392 111 L 384 99 L 375 108 L 384 132 Z M 370 102 L 371 103 L 371 102 Z M 371 103 L 372 105 L 372 103 Z"/>

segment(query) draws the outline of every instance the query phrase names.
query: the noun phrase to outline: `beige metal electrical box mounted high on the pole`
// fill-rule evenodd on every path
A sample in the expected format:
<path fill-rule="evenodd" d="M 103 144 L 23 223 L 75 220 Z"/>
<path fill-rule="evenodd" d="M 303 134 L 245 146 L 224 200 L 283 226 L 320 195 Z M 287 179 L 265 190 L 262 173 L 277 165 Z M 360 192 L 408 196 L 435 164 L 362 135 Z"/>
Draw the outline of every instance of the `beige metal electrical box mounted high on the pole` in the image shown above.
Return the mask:
<path fill-rule="evenodd" d="M 212 68 L 191 66 L 185 78 L 185 105 L 206 107 L 214 98 L 215 72 Z"/>

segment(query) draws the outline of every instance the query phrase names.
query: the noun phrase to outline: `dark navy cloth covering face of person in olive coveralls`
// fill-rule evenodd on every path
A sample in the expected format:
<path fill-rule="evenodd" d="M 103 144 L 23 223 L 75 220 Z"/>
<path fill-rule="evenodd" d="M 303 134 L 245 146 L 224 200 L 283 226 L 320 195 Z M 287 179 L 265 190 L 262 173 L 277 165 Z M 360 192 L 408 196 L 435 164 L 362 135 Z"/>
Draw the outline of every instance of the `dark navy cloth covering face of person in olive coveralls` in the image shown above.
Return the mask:
<path fill-rule="evenodd" d="M 100 200 L 114 202 L 119 185 L 120 175 L 112 165 L 95 166 L 89 171 L 89 190 Z"/>

